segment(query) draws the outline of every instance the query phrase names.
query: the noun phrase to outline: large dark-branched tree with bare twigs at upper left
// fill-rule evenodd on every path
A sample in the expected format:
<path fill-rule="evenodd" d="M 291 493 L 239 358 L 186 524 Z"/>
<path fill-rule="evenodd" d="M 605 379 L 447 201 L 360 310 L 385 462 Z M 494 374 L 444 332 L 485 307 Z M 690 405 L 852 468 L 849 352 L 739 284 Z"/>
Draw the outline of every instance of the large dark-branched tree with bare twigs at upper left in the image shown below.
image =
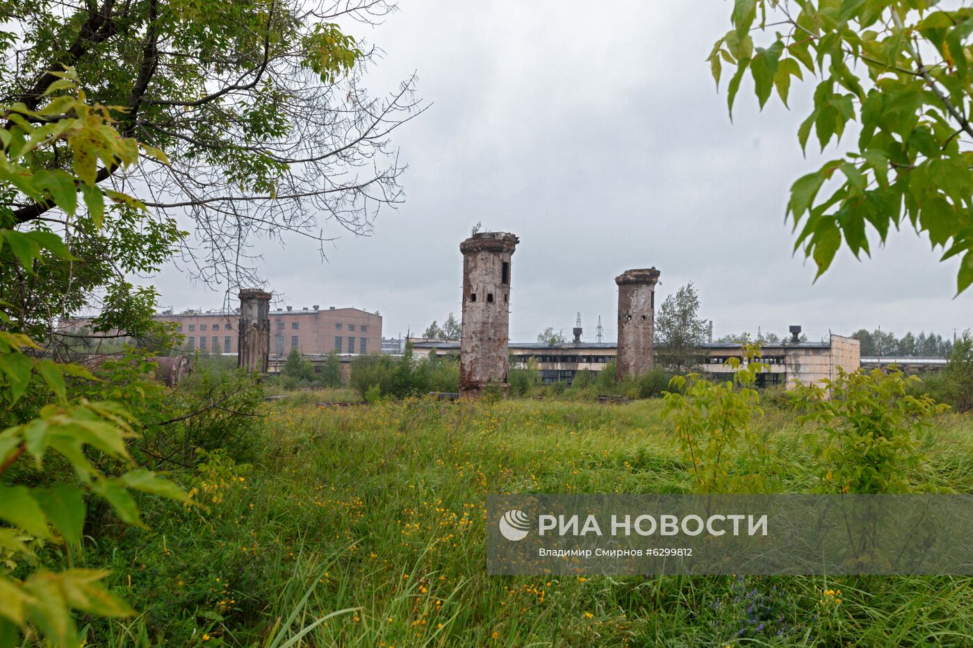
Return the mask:
<path fill-rule="evenodd" d="M 154 272 L 174 252 L 198 278 L 233 286 L 259 278 L 254 236 L 368 234 L 378 210 L 402 198 L 390 135 L 420 107 L 413 79 L 369 95 L 362 80 L 375 51 L 337 21 L 353 28 L 392 9 L 384 0 L 4 3 L 0 104 L 27 112 L 5 116 L 3 145 L 11 162 L 41 172 L 36 186 L 7 185 L 0 204 L 0 224 L 16 233 L 0 251 L 0 299 L 18 327 L 45 343 L 36 331 L 46 323 L 132 292 L 126 273 Z M 73 126 L 55 120 L 72 109 L 56 85 L 67 83 L 65 66 L 90 104 Z M 41 128 L 37 139 L 20 141 L 20 120 Z M 82 130 L 121 148 L 85 155 L 70 136 Z M 88 186 L 132 198 L 105 205 Z M 42 251 L 43 267 L 24 281 L 10 262 L 33 233 L 61 234 L 72 258 Z M 106 299 L 105 310 L 118 304 Z"/>

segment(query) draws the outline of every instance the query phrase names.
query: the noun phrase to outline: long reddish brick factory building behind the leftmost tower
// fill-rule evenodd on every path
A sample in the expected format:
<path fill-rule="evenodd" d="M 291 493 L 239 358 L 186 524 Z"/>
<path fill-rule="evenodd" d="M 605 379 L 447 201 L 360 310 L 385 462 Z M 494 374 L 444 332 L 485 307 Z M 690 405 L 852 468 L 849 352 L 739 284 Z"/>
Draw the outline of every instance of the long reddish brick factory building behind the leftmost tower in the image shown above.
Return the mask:
<path fill-rule="evenodd" d="M 239 312 L 162 312 L 156 319 L 173 322 L 184 336 L 186 350 L 209 353 L 237 353 Z M 59 328 L 84 330 L 89 317 L 64 320 Z M 283 357 L 297 348 L 301 353 L 342 354 L 381 351 L 381 315 L 360 308 L 301 308 L 290 306 L 270 310 L 270 357 Z"/>

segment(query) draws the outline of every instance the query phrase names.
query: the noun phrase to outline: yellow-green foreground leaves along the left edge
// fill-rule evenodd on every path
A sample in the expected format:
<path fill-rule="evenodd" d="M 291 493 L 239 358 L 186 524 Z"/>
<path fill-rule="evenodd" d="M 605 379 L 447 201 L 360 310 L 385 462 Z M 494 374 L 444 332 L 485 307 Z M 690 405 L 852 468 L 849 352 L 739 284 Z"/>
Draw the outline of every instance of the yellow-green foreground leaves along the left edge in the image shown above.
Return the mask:
<path fill-rule="evenodd" d="M 0 129 L 0 194 L 7 198 L 0 209 L 0 251 L 10 255 L 5 266 L 14 266 L 26 282 L 37 276 L 46 255 L 66 262 L 75 256 L 45 227 L 11 227 L 12 205 L 56 205 L 66 218 L 80 220 L 80 194 L 88 226 L 100 230 L 106 206 L 138 202 L 100 187 L 98 165 L 132 167 L 140 155 L 165 160 L 162 152 L 120 133 L 109 109 L 90 104 L 74 70 L 53 73 L 49 82 L 42 87 L 45 105 L 6 106 L 8 122 Z M 51 168 L 43 161 L 58 147 L 70 152 L 70 162 Z M 12 306 L 0 306 L 0 520 L 7 524 L 0 528 L 0 645 L 18 644 L 21 630 L 39 632 L 54 645 L 77 645 L 71 610 L 101 616 L 131 610 L 99 584 L 104 571 L 45 568 L 52 557 L 46 546 L 60 546 L 71 556 L 92 497 L 129 524 L 141 523 L 130 489 L 187 497 L 134 465 L 126 441 L 136 436 L 136 417 L 117 402 L 71 397 L 68 387 L 93 379 L 90 372 L 44 357 L 6 312 Z M 53 482 L 45 480 L 42 471 L 57 466 L 66 470 L 54 472 Z"/>

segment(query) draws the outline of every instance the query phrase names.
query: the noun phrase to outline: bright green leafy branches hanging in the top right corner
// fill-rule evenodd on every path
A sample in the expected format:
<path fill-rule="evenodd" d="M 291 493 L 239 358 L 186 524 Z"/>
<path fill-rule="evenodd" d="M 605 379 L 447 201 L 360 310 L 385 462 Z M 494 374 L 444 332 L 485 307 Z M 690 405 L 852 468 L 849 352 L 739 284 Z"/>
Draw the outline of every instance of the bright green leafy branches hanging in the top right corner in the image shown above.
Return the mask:
<path fill-rule="evenodd" d="M 774 92 L 786 105 L 792 81 L 813 78 L 801 146 L 811 130 L 823 151 L 849 123 L 860 126 L 846 155 L 791 187 L 795 249 L 818 276 L 843 239 L 856 257 L 870 255 L 876 237 L 906 225 L 928 235 L 942 260 L 961 257 L 957 293 L 973 283 L 973 9 L 938 4 L 734 0 L 733 28 L 709 54 L 717 85 L 724 63 L 734 68 L 731 115 L 747 73 L 761 108 Z"/>

